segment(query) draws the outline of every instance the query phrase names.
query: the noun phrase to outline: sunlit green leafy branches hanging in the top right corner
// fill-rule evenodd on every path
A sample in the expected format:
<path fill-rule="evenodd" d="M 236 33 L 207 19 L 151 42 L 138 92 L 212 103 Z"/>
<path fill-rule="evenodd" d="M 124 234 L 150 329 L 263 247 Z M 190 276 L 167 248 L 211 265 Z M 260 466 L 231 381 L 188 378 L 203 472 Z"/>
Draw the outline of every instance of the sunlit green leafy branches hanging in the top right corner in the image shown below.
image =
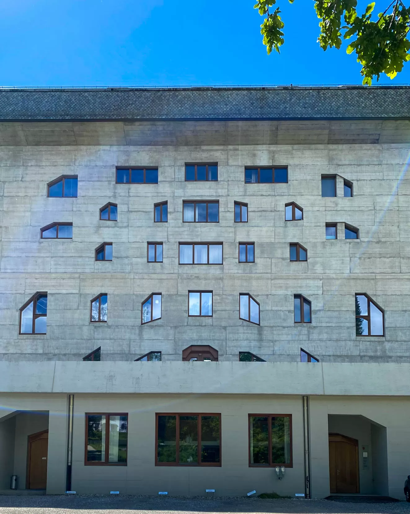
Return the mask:
<path fill-rule="evenodd" d="M 261 34 L 268 53 L 272 49 L 280 53 L 280 46 L 284 43 L 284 23 L 280 17 L 280 8 L 274 7 L 276 1 L 258 0 L 255 5 L 259 14 L 265 16 Z M 289 2 L 293 4 L 294 0 Z M 376 2 L 372 2 L 360 15 L 356 11 L 357 0 L 314 0 L 320 20 L 320 34 L 317 39 L 320 47 L 324 50 L 328 47 L 340 48 L 342 37 L 354 38 L 347 47 L 347 53 L 356 53 L 358 62 L 362 65 L 361 74 L 365 85 L 371 85 L 373 77 L 379 80 L 381 73 L 394 79 L 402 70 L 403 64 L 410 60 L 410 41 L 407 38 L 410 29 L 410 5 L 406 7 L 402 0 L 394 0 L 379 13 L 377 21 L 373 21 L 371 17 L 375 5 Z"/>

